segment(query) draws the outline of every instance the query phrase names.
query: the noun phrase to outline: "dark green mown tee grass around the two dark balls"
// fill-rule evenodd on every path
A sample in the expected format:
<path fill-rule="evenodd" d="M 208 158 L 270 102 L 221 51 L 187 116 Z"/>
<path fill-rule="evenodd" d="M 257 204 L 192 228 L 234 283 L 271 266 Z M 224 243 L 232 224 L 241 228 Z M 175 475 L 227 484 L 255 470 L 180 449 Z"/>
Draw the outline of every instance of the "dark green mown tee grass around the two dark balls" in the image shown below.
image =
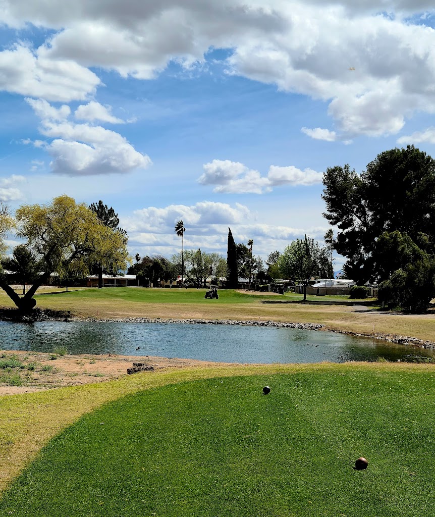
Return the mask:
<path fill-rule="evenodd" d="M 51 440 L 6 492 L 0 511 L 432 515 L 434 380 L 427 369 L 345 367 L 142 391 Z M 353 469 L 361 455 L 366 471 Z"/>

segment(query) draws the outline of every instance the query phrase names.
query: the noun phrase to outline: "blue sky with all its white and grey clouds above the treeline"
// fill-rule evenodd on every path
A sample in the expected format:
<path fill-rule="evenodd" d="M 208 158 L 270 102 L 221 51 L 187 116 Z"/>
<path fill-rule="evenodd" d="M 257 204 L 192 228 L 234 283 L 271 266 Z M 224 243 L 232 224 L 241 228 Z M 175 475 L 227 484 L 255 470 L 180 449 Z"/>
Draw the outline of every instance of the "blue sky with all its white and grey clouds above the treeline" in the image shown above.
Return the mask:
<path fill-rule="evenodd" d="M 102 200 L 132 256 L 179 252 L 180 219 L 225 257 L 228 227 L 264 259 L 323 244 L 328 167 L 435 156 L 432 6 L 0 0 L 0 199 Z"/>

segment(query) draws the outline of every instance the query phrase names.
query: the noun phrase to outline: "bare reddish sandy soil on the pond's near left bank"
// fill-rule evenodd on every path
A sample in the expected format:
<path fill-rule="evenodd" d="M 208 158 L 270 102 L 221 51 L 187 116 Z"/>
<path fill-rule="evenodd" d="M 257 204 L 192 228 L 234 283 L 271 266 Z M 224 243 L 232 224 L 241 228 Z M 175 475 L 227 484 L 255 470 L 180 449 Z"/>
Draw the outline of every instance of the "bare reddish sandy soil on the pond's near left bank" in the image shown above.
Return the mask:
<path fill-rule="evenodd" d="M 127 368 L 131 368 L 133 362 L 146 363 L 152 366 L 154 370 L 226 364 L 175 357 L 121 356 L 115 354 L 66 355 L 57 356 L 56 359 L 51 359 L 53 354 L 42 352 L 3 351 L 0 352 L 0 355 L 5 357 L 13 355 L 26 366 L 26 368 L 18 370 L 20 376 L 24 379 L 24 385 L 6 386 L 0 384 L 0 396 L 111 381 L 122 375 L 127 375 Z M 32 363 L 35 370 L 30 371 L 27 369 L 27 365 Z"/>

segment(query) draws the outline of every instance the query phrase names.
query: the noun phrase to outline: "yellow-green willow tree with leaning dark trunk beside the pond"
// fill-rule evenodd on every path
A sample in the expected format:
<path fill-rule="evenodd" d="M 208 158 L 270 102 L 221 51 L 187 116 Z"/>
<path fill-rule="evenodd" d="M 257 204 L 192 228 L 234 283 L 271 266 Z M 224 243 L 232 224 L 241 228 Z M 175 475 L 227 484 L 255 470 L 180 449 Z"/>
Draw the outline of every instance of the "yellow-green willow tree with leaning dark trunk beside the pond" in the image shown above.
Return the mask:
<path fill-rule="evenodd" d="M 48 205 L 23 205 L 15 212 L 15 220 L 17 236 L 35 253 L 41 272 L 23 297 L 5 275 L 0 287 L 24 311 L 36 306 L 33 297 L 52 273 L 60 279 L 71 273 L 85 276 L 95 263 L 119 271 L 130 262 L 126 235 L 103 224 L 84 203 L 77 204 L 67 195 L 55 197 Z"/>

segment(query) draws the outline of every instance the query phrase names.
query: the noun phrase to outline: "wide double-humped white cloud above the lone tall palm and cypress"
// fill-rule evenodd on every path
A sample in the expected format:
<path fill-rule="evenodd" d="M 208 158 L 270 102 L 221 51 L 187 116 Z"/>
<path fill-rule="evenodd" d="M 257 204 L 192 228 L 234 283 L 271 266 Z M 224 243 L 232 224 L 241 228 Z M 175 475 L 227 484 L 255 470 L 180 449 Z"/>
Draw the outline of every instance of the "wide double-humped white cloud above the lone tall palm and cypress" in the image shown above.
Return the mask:
<path fill-rule="evenodd" d="M 315 185 L 322 182 L 322 173 L 313 169 L 298 169 L 293 165 L 271 165 L 267 176 L 248 169 L 240 162 L 213 160 L 203 165 L 204 174 L 198 178 L 201 185 L 216 185 L 214 192 L 253 193 L 270 192 L 272 187 L 283 185 Z"/>

